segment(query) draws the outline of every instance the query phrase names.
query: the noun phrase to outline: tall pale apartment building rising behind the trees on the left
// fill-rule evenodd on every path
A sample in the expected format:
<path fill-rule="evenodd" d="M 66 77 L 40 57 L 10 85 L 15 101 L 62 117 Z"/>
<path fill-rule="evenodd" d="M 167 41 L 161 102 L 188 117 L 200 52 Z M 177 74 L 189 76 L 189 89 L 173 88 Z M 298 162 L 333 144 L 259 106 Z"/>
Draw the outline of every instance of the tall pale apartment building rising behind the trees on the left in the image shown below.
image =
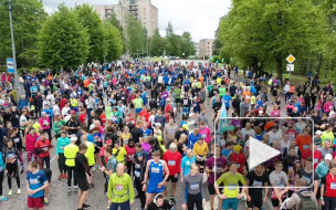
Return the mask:
<path fill-rule="evenodd" d="M 134 14 L 147 30 L 149 38 L 158 29 L 158 9 L 151 4 L 150 0 L 119 0 L 118 4 L 94 6 L 94 9 L 103 20 L 115 13 L 124 29 L 126 28 L 127 15 Z"/>

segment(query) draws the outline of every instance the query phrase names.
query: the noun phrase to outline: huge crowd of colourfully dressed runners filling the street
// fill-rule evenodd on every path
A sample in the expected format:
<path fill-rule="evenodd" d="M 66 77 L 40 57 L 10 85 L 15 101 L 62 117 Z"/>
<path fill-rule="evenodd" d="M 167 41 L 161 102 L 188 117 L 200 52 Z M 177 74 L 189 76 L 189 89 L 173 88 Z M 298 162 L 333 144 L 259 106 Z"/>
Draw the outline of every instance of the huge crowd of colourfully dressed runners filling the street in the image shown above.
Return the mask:
<path fill-rule="evenodd" d="M 309 74 L 295 87 L 272 74 L 238 73 L 211 63 L 124 61 L 24 73 L 18 99 L 3 73 L 0 201 L 21 193 L 19 175 L 27 174 L 28 208 L 43 209 L 53 175 L 67 179 L 78 210 L 88 209 L 102 172 L 111 210 L 130 209 L 135 199 L 138 210 L 201 210 L 208 200 L 213 210 L 217 196 L 219 210 L 237 210 L 239 200 L 258 210 L 267 199 L 274 210 L 335 210 L 333 84 L 322 87 Z M 249 168 L 251 137 L 281 155 Z M 50 150 L 59 171 L 50 169 Z"/>

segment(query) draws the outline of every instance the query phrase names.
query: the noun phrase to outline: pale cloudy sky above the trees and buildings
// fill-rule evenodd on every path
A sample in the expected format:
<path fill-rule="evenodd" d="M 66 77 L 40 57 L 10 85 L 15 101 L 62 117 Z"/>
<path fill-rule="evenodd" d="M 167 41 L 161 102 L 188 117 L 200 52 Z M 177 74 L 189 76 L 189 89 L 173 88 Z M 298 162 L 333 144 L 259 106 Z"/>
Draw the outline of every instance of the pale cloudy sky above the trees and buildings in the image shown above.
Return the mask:
<path fill-rule="evenodd" d="M 48 12 L 56 9 L 64 0 L 43 0 Z M 118 0 L 66 0 L 65 4 L 73 7 L 75 3 L 114 4 Z M 165 35 L 169 21 L 174 31 L 181 34 L 190 31 L 193 41 L 213 39 L 219 19 L 225 15 L 231 6 L 231 0 L 151 0 L 159 10 L 159 30 Z"/>

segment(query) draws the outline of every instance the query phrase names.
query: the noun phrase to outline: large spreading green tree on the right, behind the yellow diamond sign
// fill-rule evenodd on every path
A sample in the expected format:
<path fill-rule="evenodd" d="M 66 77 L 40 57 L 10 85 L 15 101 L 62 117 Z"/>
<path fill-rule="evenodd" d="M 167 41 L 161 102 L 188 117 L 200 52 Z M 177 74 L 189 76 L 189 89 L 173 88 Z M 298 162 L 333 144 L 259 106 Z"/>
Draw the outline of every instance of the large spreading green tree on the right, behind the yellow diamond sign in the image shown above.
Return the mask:
<path fill-rule="evenodd" d="M 303 72 L 308 71 L 305 63 L 321 67 L 322 55 L 328 52 L 323 43 L 329 38 L 328 45 L 335 44 L 335 36 L 327 32 L 326 12 L 319 4 L 318 0 L 233 1 L 220 23 L 221 54 L 256 72 L 276 70 L 280 78 L 288 54 L 296 57 L 295 65 L 303 66 Z"/>

